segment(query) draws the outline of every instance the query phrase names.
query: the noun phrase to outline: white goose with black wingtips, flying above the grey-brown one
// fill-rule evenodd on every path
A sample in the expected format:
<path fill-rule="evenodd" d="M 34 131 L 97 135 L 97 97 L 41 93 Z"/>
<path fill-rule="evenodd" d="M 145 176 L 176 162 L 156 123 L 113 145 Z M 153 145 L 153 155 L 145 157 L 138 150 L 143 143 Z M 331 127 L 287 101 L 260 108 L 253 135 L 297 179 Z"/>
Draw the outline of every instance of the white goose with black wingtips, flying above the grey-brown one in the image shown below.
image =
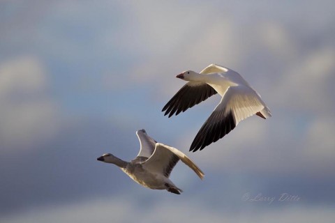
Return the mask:
<path fill-rule="evenodd" d="M 253 114 L 261 118 L 271 116 L 260 95 L 234 70 L 211 64 L 200 73 L 186 70 L 176 77 L 188 82 L 163 107 L 162 112 L 166 111 L 165 115 L 168 114 L 169 118 L 173 114 L 185 112 L 216 93 L 222 97 L 195 136 L 190 151 L 201 151 Z"/>

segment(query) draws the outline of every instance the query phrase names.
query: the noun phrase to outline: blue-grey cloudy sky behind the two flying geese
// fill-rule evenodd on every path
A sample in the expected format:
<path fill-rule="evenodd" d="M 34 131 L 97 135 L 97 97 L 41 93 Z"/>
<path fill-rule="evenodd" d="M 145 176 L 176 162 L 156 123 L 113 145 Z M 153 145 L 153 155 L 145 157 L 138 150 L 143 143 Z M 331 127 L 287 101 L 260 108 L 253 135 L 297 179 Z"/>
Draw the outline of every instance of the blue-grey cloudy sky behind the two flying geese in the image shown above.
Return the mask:
<path fill-rule="evenodd" d="M 333 222 L 334 1 L 0 1 L 0 222 Z M 273 116 L 203 151 L 193 137 L 220 98 L 161 109 L 174 76 L 218 63 Z M 189 155 L 177 196 L 134 183 L 146 129 Z"/>

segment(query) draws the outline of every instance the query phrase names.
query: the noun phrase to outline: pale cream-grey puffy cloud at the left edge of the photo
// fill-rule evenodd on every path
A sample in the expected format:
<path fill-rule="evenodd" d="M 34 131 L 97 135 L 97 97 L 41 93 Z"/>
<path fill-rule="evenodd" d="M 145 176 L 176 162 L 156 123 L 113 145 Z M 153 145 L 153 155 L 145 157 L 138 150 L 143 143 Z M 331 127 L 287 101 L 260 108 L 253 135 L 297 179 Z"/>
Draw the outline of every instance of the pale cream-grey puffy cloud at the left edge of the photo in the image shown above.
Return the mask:
<path fill-rule="evenodd" d="M 47 75 L 34 56 L 0 64 L 1 144 L 28 148 L 45 141 L 57 128 L 57 106 L 46 94 Z"/>

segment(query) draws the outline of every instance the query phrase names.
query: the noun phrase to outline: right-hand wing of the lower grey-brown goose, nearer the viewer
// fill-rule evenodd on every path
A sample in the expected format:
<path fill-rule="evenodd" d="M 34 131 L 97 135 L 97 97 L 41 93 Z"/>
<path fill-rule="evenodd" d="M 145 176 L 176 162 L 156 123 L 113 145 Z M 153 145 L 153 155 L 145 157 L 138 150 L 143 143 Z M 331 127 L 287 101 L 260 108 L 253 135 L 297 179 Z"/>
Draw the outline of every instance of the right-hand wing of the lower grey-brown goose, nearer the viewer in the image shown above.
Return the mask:
<path fill-rule="evenodd" d="M 142 164 L 142 167 L 150 172 L 163 174 L 164 176 L 169 177 L 173 167 L 177 164 L 179 159 L 193 169 L 195 174 L 201 179 L 204 177 L 204 173 L 201 169 L 184 153 L 181 153 L 177 148 L 161 143 L 156 144 L 154 153 Z"/>

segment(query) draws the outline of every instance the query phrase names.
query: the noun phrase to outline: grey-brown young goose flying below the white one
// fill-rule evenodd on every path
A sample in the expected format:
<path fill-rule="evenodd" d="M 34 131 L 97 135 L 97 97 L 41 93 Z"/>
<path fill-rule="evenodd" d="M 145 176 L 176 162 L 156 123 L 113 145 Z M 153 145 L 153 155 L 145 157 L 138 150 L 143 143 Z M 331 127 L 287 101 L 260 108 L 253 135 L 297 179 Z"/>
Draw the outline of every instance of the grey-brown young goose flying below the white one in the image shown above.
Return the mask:
<path fill-rule="evenodd" d="M 97 160 L 116 164 L 136 183 L 144 187 L 155 190 L 168 190 L 168 192 L 174 194 L 182 192 L 169 179 L 173 167 L 179 160 L 193 169 L 195 174 L 198 174 L 201 179 L 204 177 L 204 173 L 199 167 L 177 148 L 156 142 L 149 137 L 145 130 L 138 130 L 136 134 L 140 141 L 140 152 L 134 160 L 126 162 L 110 153 L 103 154 Z"/>

